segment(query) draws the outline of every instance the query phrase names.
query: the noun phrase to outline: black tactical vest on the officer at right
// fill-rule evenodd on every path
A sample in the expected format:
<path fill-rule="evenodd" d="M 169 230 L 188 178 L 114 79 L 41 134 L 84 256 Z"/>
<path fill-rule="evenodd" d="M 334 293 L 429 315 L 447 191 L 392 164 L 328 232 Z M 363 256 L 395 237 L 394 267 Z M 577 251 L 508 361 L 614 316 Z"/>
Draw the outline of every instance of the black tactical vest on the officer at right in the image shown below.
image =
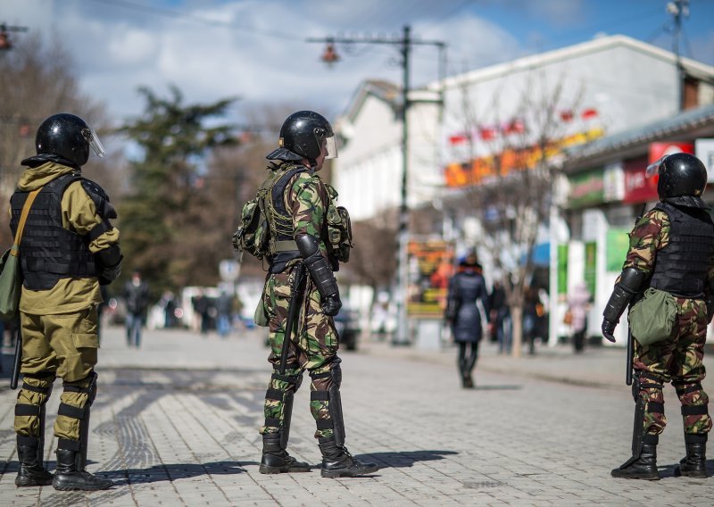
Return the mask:
<path fill-rule="evenodd" d="M 670 229 L 668 245 L 657 252 L 650 287 L 679 297 L 702 297 L 714 262 L 714 222 L 709 212 L 668 203 L 654 208 L 667 213 Z"/>

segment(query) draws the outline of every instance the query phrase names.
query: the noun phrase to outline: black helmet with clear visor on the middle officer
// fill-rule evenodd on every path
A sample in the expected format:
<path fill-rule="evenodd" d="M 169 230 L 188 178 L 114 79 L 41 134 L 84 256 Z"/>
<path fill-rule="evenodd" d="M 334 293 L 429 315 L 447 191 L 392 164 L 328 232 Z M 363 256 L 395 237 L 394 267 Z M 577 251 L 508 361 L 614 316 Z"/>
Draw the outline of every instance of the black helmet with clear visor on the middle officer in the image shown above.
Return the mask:
<path fill-rule="evenodd" d="M 329 121 L 313 111 L 298 111 L 287 117 L 280 128 L 280 147 L 270 153 L 269 160 L 303 160 L 313 162 L 327 148 L 325 158 L 337 157 L 335 134 Z"/>

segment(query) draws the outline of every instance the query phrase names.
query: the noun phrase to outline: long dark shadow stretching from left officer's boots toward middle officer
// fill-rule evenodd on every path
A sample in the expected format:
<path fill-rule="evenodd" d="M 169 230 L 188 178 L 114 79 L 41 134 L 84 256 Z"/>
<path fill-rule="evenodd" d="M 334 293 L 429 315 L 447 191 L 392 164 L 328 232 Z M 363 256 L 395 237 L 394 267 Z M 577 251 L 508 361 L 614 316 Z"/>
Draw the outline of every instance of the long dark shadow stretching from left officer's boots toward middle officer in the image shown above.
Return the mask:
<path fill-rule="evenodd" d="M 154 465 L 147 469 L 104 470 L 98 475 L 114 480 L 114 486 L 127 484 L 146 484 L 152 482 L 174 481 L 197 476 L 231 475 L 244 473 L 245 466 L 257 465 L 257 461 L 214 461 L 211 463 L 175 463 Z M 129 476 L 129 478 L 127 478 Z"/>

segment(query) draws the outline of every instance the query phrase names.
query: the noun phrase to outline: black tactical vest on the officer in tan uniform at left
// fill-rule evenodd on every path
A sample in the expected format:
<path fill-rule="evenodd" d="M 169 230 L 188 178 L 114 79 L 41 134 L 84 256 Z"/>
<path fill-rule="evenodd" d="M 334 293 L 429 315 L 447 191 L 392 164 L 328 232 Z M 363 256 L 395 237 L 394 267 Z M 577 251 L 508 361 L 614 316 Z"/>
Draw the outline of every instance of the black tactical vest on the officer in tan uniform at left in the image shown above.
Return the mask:
<path fill-rule="evenodd" d="M 62 227 L 62 194 L 81 179 L 76 172 L 53 179 L 37 194 L 29 210 L 20 248 L 23 286 L 29 290 L 49 290 L 61 278 L 96 276 L 87 237 Z M 10 199 L 13 235 L 28 195 L 16 190 Z"/>

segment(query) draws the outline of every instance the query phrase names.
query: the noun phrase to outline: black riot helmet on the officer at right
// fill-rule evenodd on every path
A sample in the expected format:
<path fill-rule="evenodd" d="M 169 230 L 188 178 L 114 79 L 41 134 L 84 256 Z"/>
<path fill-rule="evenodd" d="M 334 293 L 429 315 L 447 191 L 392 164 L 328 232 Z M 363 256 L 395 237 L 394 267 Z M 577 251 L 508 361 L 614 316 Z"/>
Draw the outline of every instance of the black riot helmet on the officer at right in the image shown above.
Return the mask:
<path fill-rule="evenodd" d="M 684 195 L 701 197 L 707 186 L 707 168 L 692 154 L 665 155 L 647 168 L 648 174 L 655 169 L 660 174 L 657 183 L 660 200 Z"/>

